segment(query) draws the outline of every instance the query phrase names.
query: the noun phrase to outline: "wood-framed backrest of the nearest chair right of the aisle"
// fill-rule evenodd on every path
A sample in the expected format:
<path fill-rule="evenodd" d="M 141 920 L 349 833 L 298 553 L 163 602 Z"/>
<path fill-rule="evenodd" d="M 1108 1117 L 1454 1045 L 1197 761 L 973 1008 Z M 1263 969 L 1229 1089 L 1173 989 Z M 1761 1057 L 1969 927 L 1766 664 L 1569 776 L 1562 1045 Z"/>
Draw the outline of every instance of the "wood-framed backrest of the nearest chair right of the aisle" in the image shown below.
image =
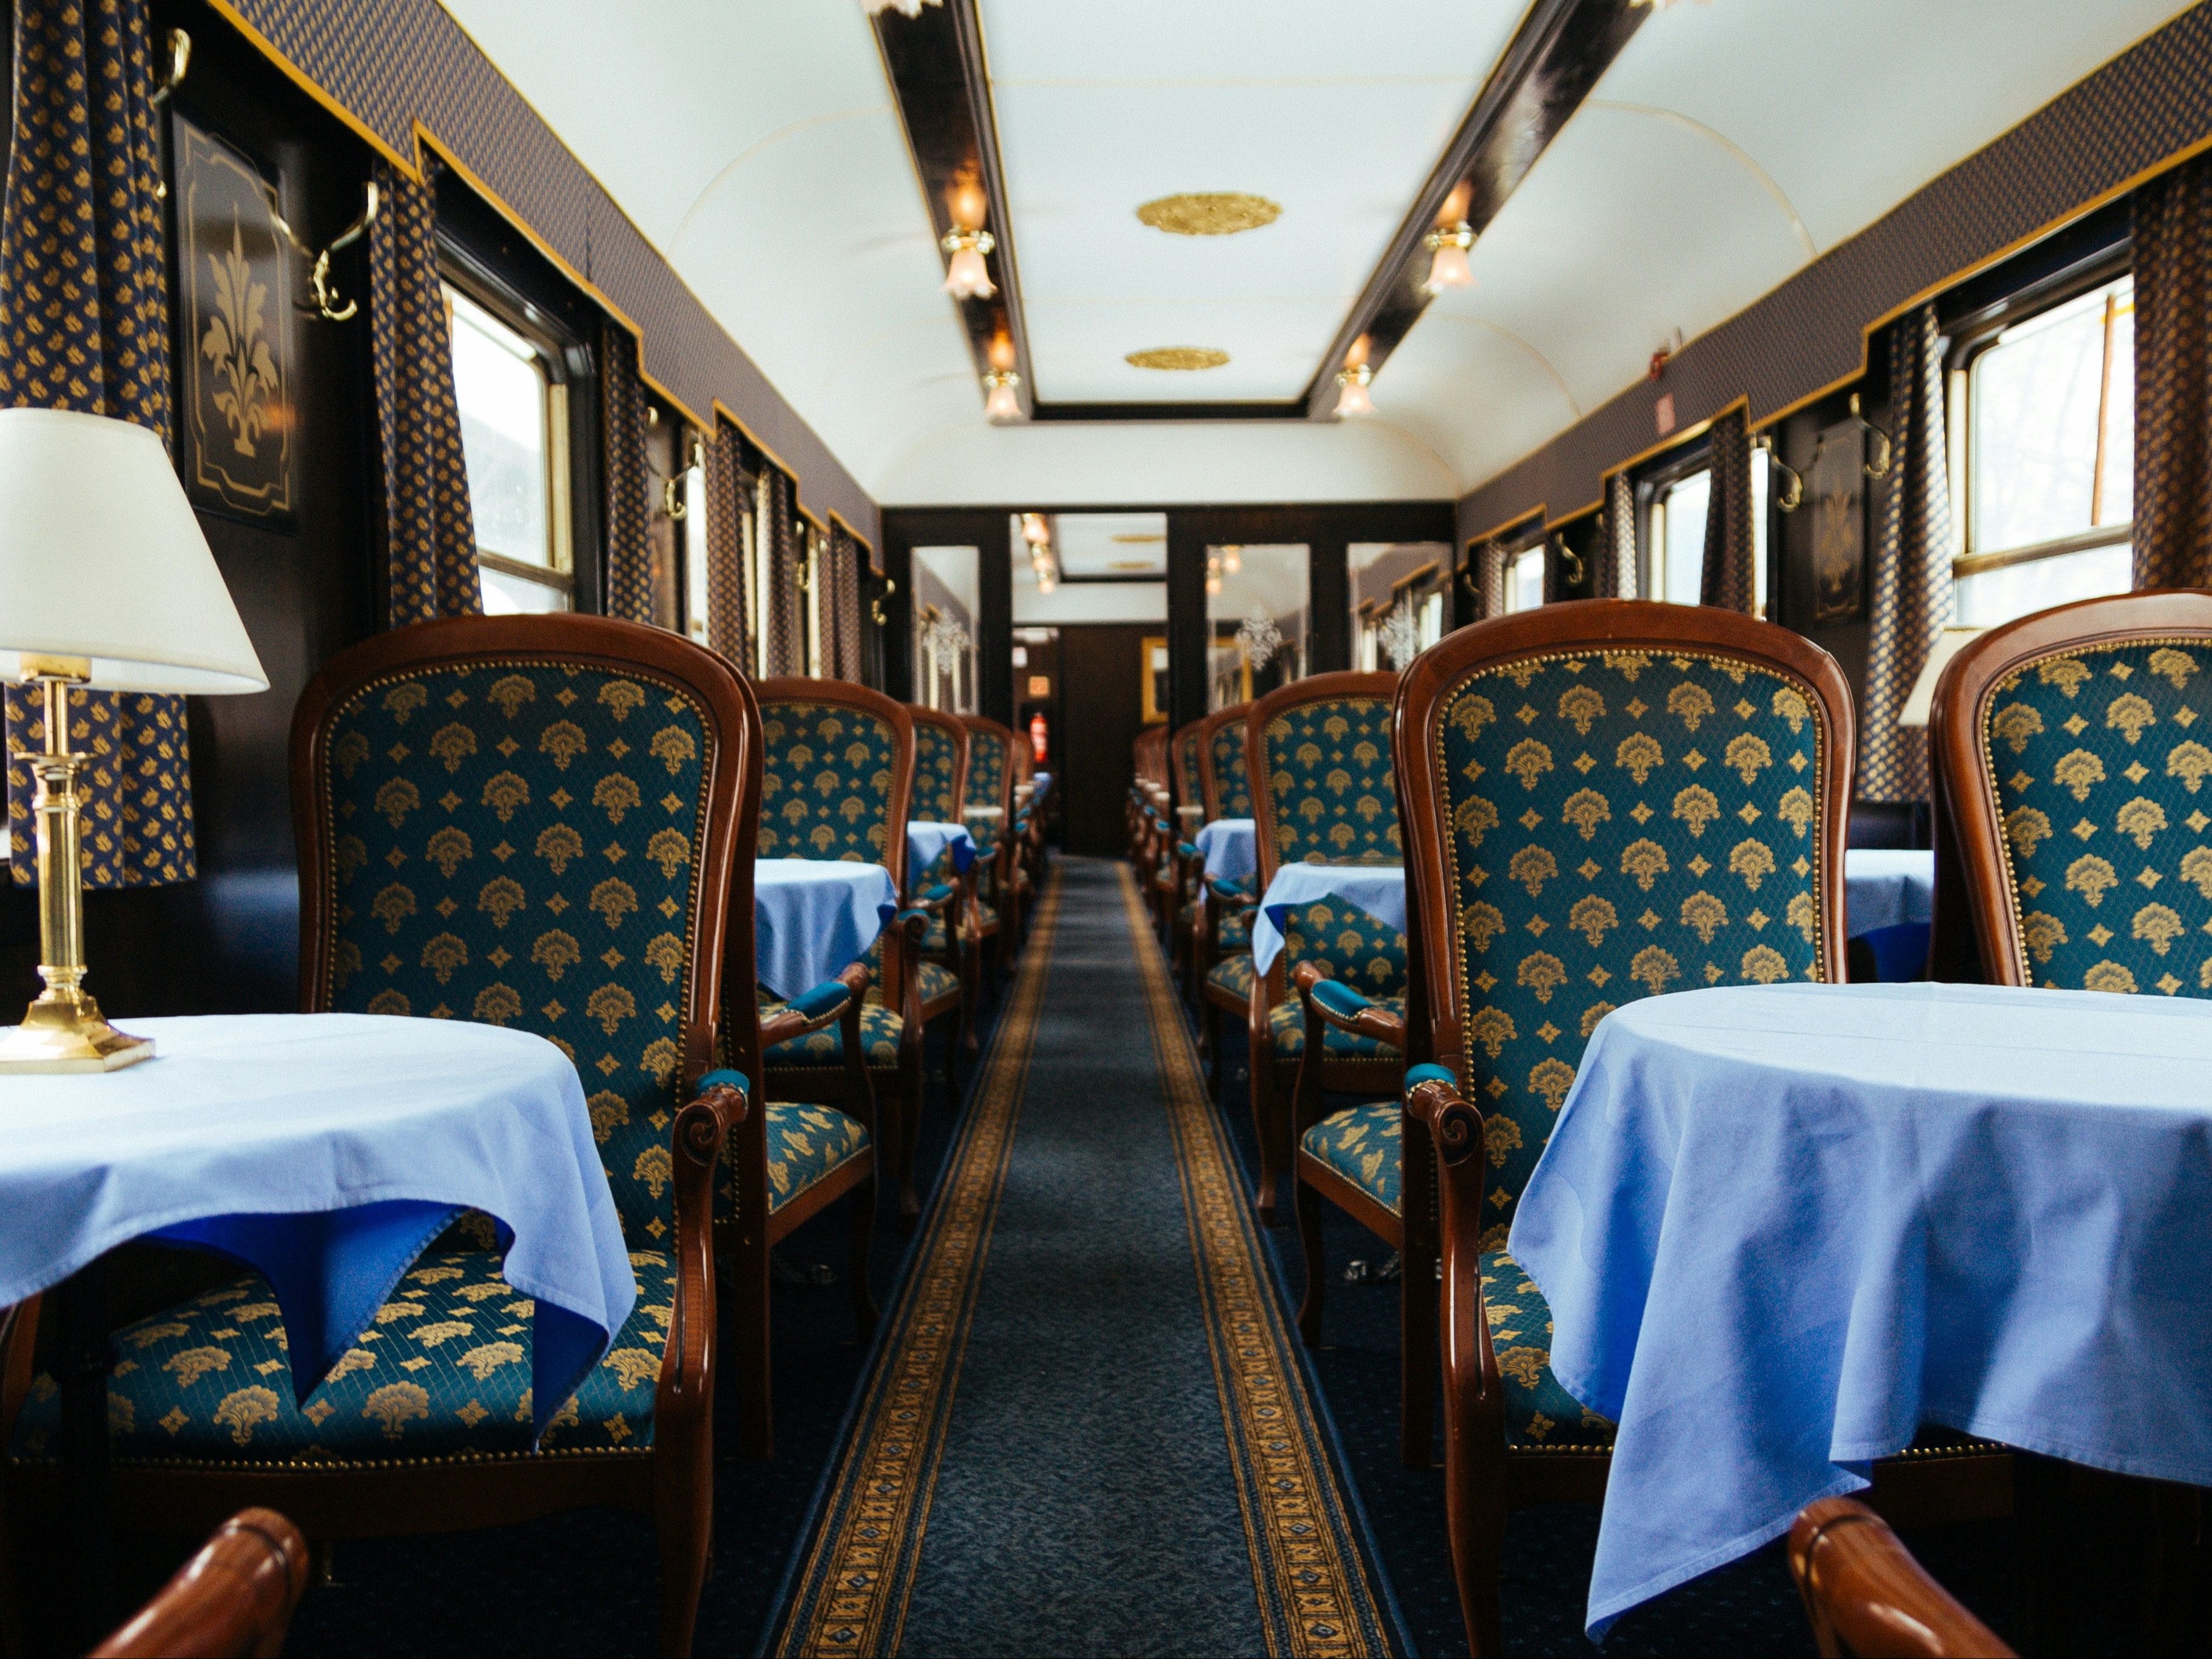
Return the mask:
<path fill-rule="evenodd" d="M 1416 978 L 1486 1119 L 1486 1250 L 1617 1004 L 1843 978 L 1851 732 L 1825 650 L 1714 606 L 1548 604 L 1407 670 Z"/>

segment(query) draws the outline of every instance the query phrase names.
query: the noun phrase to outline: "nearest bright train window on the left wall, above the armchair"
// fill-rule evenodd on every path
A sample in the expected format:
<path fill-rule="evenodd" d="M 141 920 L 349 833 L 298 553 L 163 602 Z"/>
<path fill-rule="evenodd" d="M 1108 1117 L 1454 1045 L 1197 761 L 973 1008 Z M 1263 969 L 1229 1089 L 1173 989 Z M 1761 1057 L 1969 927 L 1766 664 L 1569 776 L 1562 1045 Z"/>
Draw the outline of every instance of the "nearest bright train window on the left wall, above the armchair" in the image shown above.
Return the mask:
<path fill-rule="evenodd" d="M 571 611 L 568 387 L 553 347 L 451 285 L 445 296 L 484 611 Z"/>

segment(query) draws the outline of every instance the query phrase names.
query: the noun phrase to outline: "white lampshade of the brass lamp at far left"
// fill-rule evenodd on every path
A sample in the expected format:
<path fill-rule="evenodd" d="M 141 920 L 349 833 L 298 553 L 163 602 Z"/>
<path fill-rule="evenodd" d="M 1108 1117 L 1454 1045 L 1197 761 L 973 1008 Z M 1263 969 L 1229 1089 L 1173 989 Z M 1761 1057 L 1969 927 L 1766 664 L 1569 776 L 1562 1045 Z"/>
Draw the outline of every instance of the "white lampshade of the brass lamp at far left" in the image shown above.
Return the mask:
<path fill-rule="evenodd" d="M 268 690 L 153 429 L 0 409 L 0 675 L 27 653 L 88 657 L 108 690 Z"/>

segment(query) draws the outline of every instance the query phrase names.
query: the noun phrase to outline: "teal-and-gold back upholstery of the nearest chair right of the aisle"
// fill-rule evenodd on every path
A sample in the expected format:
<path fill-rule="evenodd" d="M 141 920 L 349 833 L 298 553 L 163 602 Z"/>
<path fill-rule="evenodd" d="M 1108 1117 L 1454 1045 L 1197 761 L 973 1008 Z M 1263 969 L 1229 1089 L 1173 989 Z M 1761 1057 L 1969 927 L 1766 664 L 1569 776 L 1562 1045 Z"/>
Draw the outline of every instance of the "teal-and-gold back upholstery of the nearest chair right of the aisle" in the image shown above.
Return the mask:
<path fill-rule="evenodd" d="M 1818 980 L 1814 695 L 1708 650 L 1559 653 L 1442 692 L 1436 757 L 1469 1091 L 1504 1243 L 1584 1044 L 1621 1002 Z"/>

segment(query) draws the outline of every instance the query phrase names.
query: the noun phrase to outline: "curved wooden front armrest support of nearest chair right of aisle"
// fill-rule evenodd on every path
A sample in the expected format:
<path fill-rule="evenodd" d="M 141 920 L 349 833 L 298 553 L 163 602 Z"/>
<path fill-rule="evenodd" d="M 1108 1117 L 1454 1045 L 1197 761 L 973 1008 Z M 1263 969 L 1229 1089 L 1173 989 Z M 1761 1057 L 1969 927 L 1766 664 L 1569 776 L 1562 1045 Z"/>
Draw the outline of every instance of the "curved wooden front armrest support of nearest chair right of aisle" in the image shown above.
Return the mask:
<path fill-rule="evenodd" d="M 1442 1267 L 1444 1334 L 1444 1425 L 1447 1462 L 1489 1447 L 1504 1455 L 1504 1378 L 1491 1347 L 1491 1321 L 1482 1305 L 1482 1113 L 1460 1095 L 1444 1066 L 1409 1066 L 1405 1073 L 1407 1128 L 1420 1128 L 1436 1148 L 1438 1248 Z M 1462 1447 L 1449 1440 L 1473 1433 Z M 1455 1455 L 1453 1455 L 1455 1453 Z"/>

